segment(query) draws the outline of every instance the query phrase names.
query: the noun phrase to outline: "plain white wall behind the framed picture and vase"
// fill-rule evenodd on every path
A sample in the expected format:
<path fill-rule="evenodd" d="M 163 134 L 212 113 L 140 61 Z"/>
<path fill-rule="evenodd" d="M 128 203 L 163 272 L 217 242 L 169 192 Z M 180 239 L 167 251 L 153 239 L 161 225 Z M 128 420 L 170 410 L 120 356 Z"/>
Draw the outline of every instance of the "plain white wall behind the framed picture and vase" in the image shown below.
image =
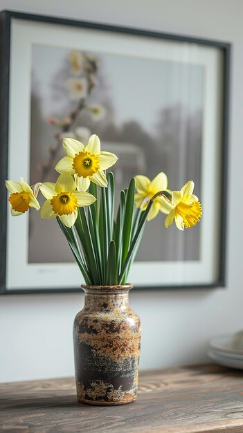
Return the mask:
<path fill-rule="evenodd" d="M 143 324 L 141 368 L 206 360 L 213 335 L 243 329 L 241 0 L 0 0 L 0 9 L 97 21 L 233 43 L 227 286 L 131 293 Z M 73 375 L 72 324 L 82 294 L 0 297 L 0 382 Z"/>

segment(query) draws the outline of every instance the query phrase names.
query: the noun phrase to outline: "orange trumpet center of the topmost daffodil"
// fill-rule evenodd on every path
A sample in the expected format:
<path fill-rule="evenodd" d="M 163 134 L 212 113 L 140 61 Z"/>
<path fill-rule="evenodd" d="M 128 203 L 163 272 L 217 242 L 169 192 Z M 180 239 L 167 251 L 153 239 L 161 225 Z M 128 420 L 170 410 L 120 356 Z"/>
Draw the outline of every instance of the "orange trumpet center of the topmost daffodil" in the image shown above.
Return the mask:
<path fill-rule="evenodd" d="M 73 169 L 79 177 L 92 176 L 94 173 L 98 172 L 100 168 L 99 158 L 95 154 L 83 151 L 79 154 L 75 154 L 73 158 Z"/>

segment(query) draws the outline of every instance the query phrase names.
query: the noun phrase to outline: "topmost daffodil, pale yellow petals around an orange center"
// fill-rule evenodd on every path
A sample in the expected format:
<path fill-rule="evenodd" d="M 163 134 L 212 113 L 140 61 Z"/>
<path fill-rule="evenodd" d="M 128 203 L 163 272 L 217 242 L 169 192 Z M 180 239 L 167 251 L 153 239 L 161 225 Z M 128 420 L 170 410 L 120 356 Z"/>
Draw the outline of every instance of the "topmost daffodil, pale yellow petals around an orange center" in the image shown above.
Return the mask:
<path fill-rule="evenodd" d="M 88 189 L 90 181 L 101 187 L 107 186 L 107 178 L 103 170 L 114 165 L 118 158 L 110 152 L 100 151 L 98 136 L 93 134 L 86 147 L 82 142 L 72 138 L 64 139 L 62 145 L 66 156 L 55 166 L 57 172 L 76 174 L 78 190 L 81 190 L 79 182 L 83 185 L 83 178 L 85 190 Z"/>

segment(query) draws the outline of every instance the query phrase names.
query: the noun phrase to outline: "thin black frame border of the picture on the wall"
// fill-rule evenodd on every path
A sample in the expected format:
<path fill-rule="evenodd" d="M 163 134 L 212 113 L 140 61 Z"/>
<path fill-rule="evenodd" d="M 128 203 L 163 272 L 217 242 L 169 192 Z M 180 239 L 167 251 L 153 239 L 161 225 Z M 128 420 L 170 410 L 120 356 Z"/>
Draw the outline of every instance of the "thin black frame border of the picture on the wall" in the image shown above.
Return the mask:
<path fill-rule="evenodd" d="M 77 21 L 71 19 L 61 19 L 56 17 L 47 17 L 42 15 L 32 15 L 15 11 L 2 11 L 0 13 L 0 71 L 1 71 L 1 98 L 0 98 L 0 152 L 1 152 L 1 207 L 0 207 L 0 226 L 1 226 L 1 274 L 0 274 L 0 293 L 1 294 L 20 294 L 20 293 L 65 293 L 78 292 L 80 288 L 6 288 L 6 250 L 7 246 L 7 190 L 5 180 L 8 179 L 8 136 L 9 136 L 9 91 L 10 91 L 10 39 L 11 39 L 11 21 L 12 19 L 37 21 L 42 23 L 53 24 L 55 26 L 73 26 L 75 28 L 89 28 L 110 33 L 120 33 L 122 35 L 136 35 L 148 39 L 170 40 L 181 43 L 197 44 L 199 46 L 215 47 L 222 51 L 222 139 L 221 139 L 221 167 L 220 184 L 220 233 L 218 248 L 218 273 L 217 279 L 210 284 L 193 284 L 193 285 L 174 285 L 174 286 L 139 286 L 139 290 L 151 289 L 172 289 L 172 288 L 216 288 L 226 285 L 226 196 L 227 196 L 227 160 L 228 160 L 228 113 L 229 113 L 229 86 L 230 86 L 230 55 L 231 44 L 227 42 L 213 41 L 209 39 L 199 39 L 197 37 L 187 37 L 181 35 L 172 35 L 168 33 L 159 33 L 148 30 L 135 28 L 126 28 L 110 26 L 105 24 L 92 23 L 87 21 Z M 136 286 L 135 286 L 136 288 Z"/>

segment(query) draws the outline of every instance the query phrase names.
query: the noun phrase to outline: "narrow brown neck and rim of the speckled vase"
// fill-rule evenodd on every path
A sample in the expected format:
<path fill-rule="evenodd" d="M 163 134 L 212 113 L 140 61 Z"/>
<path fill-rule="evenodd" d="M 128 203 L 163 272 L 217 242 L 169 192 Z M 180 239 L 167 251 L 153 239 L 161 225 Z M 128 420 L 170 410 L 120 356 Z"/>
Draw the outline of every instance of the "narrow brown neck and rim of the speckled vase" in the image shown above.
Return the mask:
<path fill-rule="evenodd" d="M 84 309 L 87 311 L 125 310 L 129 308 L 130 284 L 125 286 L 82 286 L 85 298 Z"/>

